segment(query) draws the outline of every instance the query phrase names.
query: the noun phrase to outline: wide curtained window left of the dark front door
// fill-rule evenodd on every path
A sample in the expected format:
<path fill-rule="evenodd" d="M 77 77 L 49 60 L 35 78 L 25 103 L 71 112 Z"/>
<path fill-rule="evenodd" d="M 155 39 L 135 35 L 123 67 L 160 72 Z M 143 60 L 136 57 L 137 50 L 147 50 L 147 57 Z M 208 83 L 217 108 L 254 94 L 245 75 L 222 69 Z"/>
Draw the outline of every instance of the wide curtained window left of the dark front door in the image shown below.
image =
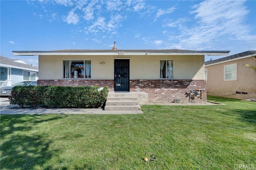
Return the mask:
<path fill-rule="evenodd" d="M 63 65 L 63 78 L 91 78 L 91 61 L 68 60 Z"/>

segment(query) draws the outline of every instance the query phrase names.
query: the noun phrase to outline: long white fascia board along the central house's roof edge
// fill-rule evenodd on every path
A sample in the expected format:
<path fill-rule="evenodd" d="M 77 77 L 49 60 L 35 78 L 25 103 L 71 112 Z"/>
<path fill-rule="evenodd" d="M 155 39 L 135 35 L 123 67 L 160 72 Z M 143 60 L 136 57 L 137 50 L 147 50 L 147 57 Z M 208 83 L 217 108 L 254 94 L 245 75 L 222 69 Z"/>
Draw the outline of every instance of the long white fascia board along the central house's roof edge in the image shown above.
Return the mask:
<path fill-rule="evenodd" d="M 105 56 L 115 56 L 115 55 L 137 55 L 137 56 L 143 56 L 143 55 L 208 55 L 208 56 L 214 56 L 214 55 L 228 55 L 229 52 L 152 52 L 149 51 L 139 51 L 139 52 L 131 52 L 131 51 L 111 51 L 111 52 L 52 52 L 52 51 L 44 51 L 44 52 L 36 52 L 36 51 L 13 51 L 14 56 L 36 56 L 36 55 L 90 55 L 90 56 L 96 56 L 96 55 L 105 55 Z"/>

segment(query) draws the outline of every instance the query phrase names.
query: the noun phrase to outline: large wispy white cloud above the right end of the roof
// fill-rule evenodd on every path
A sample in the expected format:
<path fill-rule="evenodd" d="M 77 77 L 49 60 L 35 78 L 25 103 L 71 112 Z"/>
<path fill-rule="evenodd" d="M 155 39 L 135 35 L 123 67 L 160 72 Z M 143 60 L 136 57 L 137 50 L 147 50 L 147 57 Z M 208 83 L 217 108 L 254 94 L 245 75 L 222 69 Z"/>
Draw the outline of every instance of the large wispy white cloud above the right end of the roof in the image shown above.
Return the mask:
<path fill-rule="evenodd" d="M 250 27 L 244 24 L 248 10 L 244 1 L 207 0 L 193 6 L 193 25 L 186 18 L 165 23 L 165 26 L 178 27 L 180 35 L 170 36 L 169 40 L 178 40 L 171 48 L 188 50 L 212 49 L 235 40 L 254 42 L 255 35 L 250 35 Z M 218 49 L 219 50 L 219 49 Z"/>

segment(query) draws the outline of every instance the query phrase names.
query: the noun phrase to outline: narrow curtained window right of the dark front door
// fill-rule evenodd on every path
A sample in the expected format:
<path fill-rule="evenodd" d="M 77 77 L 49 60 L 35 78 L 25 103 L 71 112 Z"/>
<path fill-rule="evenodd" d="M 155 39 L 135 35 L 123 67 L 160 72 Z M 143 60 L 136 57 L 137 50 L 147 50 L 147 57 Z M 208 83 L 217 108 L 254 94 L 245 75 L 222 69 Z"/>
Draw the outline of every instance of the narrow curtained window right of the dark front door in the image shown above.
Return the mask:
<path fill-rule="evenodd" d="M 173 60 L 160 61 L 160 78 L 173 78 Z"/>

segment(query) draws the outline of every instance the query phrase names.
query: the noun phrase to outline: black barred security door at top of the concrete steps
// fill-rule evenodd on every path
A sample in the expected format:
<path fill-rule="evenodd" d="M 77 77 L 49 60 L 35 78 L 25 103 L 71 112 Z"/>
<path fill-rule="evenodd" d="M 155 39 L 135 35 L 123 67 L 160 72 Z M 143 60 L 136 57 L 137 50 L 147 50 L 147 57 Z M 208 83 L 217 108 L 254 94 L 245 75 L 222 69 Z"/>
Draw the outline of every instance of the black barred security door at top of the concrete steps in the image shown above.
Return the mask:
<path fill-rule="evenodd" d="M 114 82 L 115 91 L 130 91 L 130 60 L 114 60 Z"/>

